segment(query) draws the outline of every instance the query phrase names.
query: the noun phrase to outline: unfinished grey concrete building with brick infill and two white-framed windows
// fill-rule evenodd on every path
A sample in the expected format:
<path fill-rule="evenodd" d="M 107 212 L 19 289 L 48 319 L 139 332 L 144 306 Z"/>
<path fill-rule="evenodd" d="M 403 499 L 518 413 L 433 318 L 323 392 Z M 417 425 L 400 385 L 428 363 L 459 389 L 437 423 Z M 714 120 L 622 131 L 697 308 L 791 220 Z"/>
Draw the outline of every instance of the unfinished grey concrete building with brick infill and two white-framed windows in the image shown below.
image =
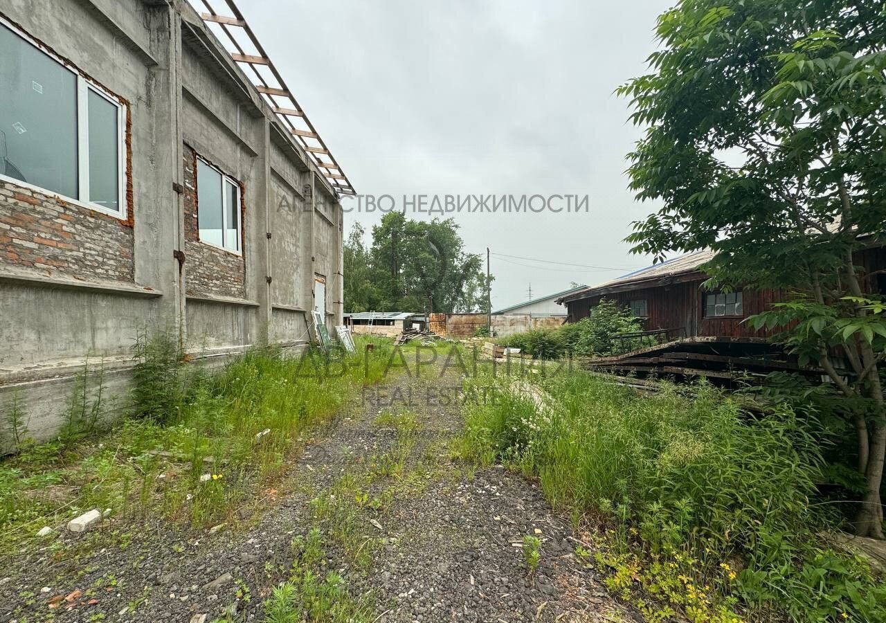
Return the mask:
<path fill-rule="evenodd" d="M 248 31 L 183 0 L 0 4 L 0 415 L 15 396 L 35 438 L 87 357 L 125 391 L 138 331 L 222 361 L 342 322 L 353 189 L 220 24 Z"/>

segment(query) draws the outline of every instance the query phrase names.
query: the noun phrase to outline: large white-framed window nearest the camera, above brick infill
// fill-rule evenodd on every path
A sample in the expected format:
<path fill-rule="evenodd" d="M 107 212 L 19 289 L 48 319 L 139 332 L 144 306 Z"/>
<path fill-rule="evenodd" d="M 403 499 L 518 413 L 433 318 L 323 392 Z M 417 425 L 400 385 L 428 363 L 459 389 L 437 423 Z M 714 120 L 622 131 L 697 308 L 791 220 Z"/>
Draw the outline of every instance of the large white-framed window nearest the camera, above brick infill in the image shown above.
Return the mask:
<path fill-rule="evenodd" d="M 0 179 L 125 217 L 123 106 L 0 20 Z"/>

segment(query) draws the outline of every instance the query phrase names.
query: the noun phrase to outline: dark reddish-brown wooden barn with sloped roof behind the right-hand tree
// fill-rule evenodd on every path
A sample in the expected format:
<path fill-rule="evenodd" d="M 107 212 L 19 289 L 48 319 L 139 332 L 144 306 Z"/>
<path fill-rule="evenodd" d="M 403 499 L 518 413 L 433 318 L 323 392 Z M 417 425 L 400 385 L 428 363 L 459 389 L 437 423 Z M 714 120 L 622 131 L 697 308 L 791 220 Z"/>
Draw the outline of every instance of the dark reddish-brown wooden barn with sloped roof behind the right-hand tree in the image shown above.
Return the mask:
<path fill-rule="evenodd" d="M 744 322 L 786 300 L 787 292 L 704 290 L 707 275 L 701 267 L 712 257 L 710 250 L 688 253 L 558 299 L 570 323 L 591 315 L 602 299 L 630 307 L 641 318 L 644 331 L 621 338 L 630 340 L 633 351 L 602 358 L 592 367 L 713 378 L 735 378 L 748 370 L 799 370 L 770 344 L 774 331 L 755 331 Z M 886 248 L 871 245 L 858 253 L 856 263 L 867 291 L 886 294 Z"/>

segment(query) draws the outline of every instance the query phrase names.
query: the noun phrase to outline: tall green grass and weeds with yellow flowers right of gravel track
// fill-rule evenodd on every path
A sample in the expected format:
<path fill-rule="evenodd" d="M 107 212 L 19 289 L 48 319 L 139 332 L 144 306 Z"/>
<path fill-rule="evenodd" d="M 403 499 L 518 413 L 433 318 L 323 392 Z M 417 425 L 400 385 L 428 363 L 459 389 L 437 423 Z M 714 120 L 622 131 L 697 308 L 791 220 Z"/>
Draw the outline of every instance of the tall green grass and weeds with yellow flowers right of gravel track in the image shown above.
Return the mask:
<path fill-rule="evenodd" d="M 539 479 L 648 620 L 886 617 L 882 580 L 820 536 L 820 450 L 789 409 L 753 418 L 710 385 L 641 395 L 574 372 L 540 379 L 556 404 L 539 412 L 506 383 L 469 381 L 492 400 L 466 405 L 455 449 Z"/>

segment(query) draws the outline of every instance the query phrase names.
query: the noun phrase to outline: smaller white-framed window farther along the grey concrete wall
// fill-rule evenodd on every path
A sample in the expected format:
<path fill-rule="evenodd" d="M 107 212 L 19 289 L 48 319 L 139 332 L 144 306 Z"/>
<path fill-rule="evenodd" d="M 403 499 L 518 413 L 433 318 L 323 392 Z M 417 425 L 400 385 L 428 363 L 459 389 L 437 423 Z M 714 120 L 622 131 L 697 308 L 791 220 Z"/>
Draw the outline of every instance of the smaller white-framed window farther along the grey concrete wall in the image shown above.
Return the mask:
<path fill-rule="evenodd" d="M 240 186 L 197 159 L 197 220 L 200 240 L 240 253 Z"/>

